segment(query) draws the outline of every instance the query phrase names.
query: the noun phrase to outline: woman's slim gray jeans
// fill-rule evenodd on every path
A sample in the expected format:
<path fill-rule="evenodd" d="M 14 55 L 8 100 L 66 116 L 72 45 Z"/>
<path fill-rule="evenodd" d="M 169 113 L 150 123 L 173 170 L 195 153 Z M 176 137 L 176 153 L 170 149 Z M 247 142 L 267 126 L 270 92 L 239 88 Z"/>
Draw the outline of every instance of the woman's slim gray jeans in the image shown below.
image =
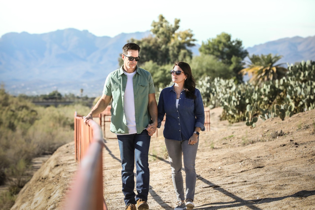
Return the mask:
<path fill-rule="evenodd" d="M 176 141 L 165 138 L 166 149 L 169 153 L 169 162 L 172 169 L 172 180 L 177 200 L 185 200 L 184 181 L 181 174 L 182 154 L 186 173 L 186 199 L 194 200 L 196 188 L 195 161 L 199 140 L 195 145 L 188 144 L 188 140 Z"/>

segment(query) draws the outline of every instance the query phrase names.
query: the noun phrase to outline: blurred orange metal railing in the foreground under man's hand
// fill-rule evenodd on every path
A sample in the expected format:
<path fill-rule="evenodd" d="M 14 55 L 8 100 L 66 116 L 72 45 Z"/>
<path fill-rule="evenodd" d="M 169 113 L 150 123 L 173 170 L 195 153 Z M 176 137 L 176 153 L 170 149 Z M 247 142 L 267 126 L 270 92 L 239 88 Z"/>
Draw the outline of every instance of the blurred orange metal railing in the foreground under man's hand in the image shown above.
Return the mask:
<path fill-rule="evenodd" d="M 75 158 L 80 166 L 65 201 L 69 210 L 107 210 L 103 197 L 103 134 L 93 120 L 74 116 Z"/>

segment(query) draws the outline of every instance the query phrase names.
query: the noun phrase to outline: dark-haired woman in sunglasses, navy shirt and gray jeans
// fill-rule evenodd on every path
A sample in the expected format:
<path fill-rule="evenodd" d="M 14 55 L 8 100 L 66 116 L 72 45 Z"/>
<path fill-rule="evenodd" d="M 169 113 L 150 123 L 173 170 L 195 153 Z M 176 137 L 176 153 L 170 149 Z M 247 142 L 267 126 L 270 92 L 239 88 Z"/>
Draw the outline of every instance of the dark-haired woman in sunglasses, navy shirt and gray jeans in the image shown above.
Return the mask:
<path fill-rule="evenodd" d="M 158 122 L 166 114 L 163 135 L 178 200 L 175 210 L 193 209 L 199 132 L 205 130 L 203 102 L 200 91 L 195 88 L 196 81 L 188 63 L 175 62 L 171 75 L 174 84 L 160 93 L 157 105 Z M 186 204 L 181 174 L 182 154 L 186 173 Z"/>

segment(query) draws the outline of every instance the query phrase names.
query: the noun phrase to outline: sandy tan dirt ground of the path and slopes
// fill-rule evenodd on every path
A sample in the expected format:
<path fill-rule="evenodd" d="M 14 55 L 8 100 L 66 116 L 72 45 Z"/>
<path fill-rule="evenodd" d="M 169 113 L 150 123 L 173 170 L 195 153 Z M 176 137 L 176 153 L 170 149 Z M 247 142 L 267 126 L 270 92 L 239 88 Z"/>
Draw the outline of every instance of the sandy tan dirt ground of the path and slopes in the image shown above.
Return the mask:
<path fill-rule="evenodd" d="M 194 209 L 315 209 L 315 110 L 259 120 L 255 129 L 220 121 L 221 111 L 210 110 L 210 131 L 200 133 Z M 151 139 L 148 202 L 150 209 L 170 210 L 176 196 L 162 132 Z M 117 140 L 105 144 L 104 198 L 109 209 L 124 209 Z M 77 168 L 74 143 L 60 147 L 12 209 L 61 209 Z"/>

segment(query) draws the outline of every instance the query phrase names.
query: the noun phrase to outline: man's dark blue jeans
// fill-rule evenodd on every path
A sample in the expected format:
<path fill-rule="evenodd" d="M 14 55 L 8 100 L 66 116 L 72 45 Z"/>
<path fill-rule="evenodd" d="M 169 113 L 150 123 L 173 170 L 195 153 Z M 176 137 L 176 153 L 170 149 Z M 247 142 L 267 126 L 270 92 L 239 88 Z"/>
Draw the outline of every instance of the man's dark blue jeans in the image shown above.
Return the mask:
<path fill-rule="evenodd" d="M 121 179 L 125 204 L 136 204 L 139 199 L 148 200 L 150 171 L 148 163 L 151 136 L 147 130 L 140 134 L 117 135 L 120 158 Z M 136 164 L 136 190 L 134 168 Z"/>

